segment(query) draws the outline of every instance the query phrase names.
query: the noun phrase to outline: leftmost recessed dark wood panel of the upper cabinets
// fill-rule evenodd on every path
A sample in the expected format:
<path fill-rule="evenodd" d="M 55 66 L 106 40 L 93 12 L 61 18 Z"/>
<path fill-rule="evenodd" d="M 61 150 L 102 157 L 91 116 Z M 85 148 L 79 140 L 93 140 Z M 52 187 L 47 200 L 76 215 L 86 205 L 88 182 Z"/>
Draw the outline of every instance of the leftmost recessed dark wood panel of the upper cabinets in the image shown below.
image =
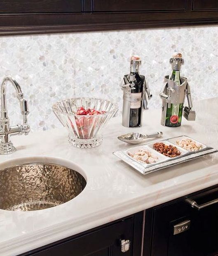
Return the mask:
<path fill-rule="evenodd" d="M 2 0 L 0 13 L 82 12 L 82 0 Z"/>

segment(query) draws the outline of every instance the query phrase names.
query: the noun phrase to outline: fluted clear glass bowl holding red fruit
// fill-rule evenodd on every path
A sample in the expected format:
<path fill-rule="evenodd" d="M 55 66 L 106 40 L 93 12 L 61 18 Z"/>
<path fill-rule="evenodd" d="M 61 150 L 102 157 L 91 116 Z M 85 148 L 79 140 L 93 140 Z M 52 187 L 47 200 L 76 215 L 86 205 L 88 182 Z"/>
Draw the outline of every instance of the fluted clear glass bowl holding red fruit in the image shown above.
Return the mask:
<path fill-rule="evenodd" d="M 76 115 L 80 107 L 105 111 L 99 115 Z M 110 101 L 94 98 L 72 98 L 59 101 L 52 109 L 69 131 L 68 141 L 78 148 L 94 148 L 102 143 L 102 129 L 115 115 L 117 105 Z"/>

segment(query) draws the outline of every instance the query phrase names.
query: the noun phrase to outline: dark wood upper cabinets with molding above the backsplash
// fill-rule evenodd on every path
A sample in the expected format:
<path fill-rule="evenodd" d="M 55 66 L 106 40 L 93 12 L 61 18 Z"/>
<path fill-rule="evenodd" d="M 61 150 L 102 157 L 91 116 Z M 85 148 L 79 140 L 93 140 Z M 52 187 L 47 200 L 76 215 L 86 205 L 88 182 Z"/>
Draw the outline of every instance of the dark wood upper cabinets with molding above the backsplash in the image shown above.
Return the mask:
<path fill-rule="evenodd" d="M 217 0 L 2 0 L 0 34 L 218 23 Z"/>

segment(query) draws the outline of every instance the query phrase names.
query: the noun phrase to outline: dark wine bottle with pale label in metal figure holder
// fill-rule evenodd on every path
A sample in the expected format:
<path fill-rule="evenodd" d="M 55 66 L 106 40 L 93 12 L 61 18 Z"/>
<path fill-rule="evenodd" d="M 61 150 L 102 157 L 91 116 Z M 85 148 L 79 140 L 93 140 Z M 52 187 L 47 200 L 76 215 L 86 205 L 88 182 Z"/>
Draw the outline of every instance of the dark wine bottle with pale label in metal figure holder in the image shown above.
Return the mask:
<path fill-rule="evenodd" d="M 127 79 L 130 83 L 134 84 L 131 88 L 131 101 L 129 127 L 141 126 L 141 111 L 142 111 L 142 92 L 144 78 L 139 75 L 139 66 L 141 65 L 141 59 L 139 56 L 132 56 L 130 60 L 130 73 Z M 138 101 L 137 101 L 138 99 Z"/>

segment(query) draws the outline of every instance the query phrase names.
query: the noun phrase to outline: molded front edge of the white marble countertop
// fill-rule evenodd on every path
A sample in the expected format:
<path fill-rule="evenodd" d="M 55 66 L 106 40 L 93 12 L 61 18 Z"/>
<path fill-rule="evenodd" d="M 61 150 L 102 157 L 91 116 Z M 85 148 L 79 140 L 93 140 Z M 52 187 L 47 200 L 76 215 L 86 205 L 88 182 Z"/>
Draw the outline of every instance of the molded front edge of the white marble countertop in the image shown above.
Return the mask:
<path fill-rule="evenodd" d="M 149 193 L 145 193 L 144 195 L 142 194 L 140 196 L 138 195 L 137 198 L 127 200 L 126 202 L 123 202 L 122 205 L 117 204 L 113 206 L 112 210 L 111 207 L 108 207 L 102 209 L 102 211 L 98 212 L 97 215 L 96 212 L 93 212 L 93 214 L 89 213 L 82 218 L 74 219 L 72 223 L 69 223 L 70 220 L 63 221 L 59 223 L 59 225 L 53 225 L 49 228 L 41 229 L 31 234 L 25 234 L 21 237 L 16 237 L 14 239 L 1 242 L 0 253 L 11 256 L 12 254 L 10 254 L 10 251 L 13 253 L 14 251 L 17 251 L 16 253 L 21 254 L 28 248 L 30 250 L 33 248 L 38 248 L 38 240 L 40 241 L 43 239 L 45 244 L 49 244 L 57 241 L 57 239 L 61 240 L 65 237 L 76 235 L 91 228 L 98 227 L 99 225 L 104 225 L 108 222 L 115 221 L 119 218 L 129 216 L 139 211 L 143 211 L 158 204 L 168 202 L 177 197 L 185 196 L 218 183 L 218 171 L 214 170 L 207 175 L 210 177 L 210 179 L 206 181 L 206 183 L 202 183 L 202 181 L 205 181 L 205 175 L 202 174 L 202 176 L 195 178 L 195 180 L 192 179 L 180 184 L 175 184 L 176 190 L 178 190 L 177 192 L 175 192 L 175 186 L 169 185 L 168 188 L 164 187 L 159 190 L 160 193 L 157 198 L 157 192 L 159 191 L 156 190 L 155 193 L 153 190 L 150 190 Z M 152 188 L 152 186 L 150 188 Z M 182 190 L 184 191 L 183 193 L 181 193 Z M 39 242 L 39 246 L 42 246 L 41 242 Z M 22 249 L 22 247 L 25 247 L 25 249 Z"/>

